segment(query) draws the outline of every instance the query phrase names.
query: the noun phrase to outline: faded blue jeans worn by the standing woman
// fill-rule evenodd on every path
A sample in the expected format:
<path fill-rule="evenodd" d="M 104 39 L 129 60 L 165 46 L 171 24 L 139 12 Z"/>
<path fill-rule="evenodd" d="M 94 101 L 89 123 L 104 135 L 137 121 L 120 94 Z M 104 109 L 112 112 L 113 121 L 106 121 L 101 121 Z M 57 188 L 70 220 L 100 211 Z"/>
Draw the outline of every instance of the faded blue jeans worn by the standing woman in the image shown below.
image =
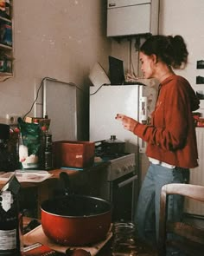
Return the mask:
<path fill-rule="evenodd" d="M 159 234 L 160 194 L 161 188 L 169 183 L 184 183 L 183 172 L 188 169 L 175 167 L 170 169 L 160 165 L 150 164 L 144 178 L 137 202 L 135 223 L 137 236 L 156 246 Z M 180 221 L 183 213 L 183 197 L 169 196 L 168 219 Z"/>

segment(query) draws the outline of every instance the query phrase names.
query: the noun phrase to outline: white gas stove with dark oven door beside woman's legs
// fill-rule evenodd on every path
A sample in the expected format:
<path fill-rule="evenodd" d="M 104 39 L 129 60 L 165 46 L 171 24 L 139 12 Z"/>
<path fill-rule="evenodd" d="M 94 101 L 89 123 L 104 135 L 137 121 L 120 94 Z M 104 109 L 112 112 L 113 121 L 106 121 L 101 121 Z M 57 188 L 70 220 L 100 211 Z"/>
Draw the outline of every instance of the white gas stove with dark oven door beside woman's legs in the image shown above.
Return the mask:
<path fill-rule="evenodd" d="M 136 154 L 100 155 L 109 165 L 106 167 L 102 198 L 113 204 L 112 221 L 133 220 L 137 198 Z"/>

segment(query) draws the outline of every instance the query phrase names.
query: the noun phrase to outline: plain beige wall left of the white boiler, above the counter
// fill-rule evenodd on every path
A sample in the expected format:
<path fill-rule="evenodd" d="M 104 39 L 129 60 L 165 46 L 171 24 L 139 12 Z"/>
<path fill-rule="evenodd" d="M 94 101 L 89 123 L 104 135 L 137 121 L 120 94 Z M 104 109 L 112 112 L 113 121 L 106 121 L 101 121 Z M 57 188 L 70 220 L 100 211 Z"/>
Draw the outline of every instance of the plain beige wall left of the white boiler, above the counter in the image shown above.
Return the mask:
<path fill-rule="evenodd" d="M 111 51 L 111 41 L 105 36 L 106 1 L 13 2 L 15 76 L 0 82 L 0 117 L 27 113 L 45 76 L 74 82 L 82 89 L 78 90 L 79 139 L 87 139 L 87 77 L 94 62 L 107 69 Z M 35 115 L 35 109 L 30 115 Z"/>

